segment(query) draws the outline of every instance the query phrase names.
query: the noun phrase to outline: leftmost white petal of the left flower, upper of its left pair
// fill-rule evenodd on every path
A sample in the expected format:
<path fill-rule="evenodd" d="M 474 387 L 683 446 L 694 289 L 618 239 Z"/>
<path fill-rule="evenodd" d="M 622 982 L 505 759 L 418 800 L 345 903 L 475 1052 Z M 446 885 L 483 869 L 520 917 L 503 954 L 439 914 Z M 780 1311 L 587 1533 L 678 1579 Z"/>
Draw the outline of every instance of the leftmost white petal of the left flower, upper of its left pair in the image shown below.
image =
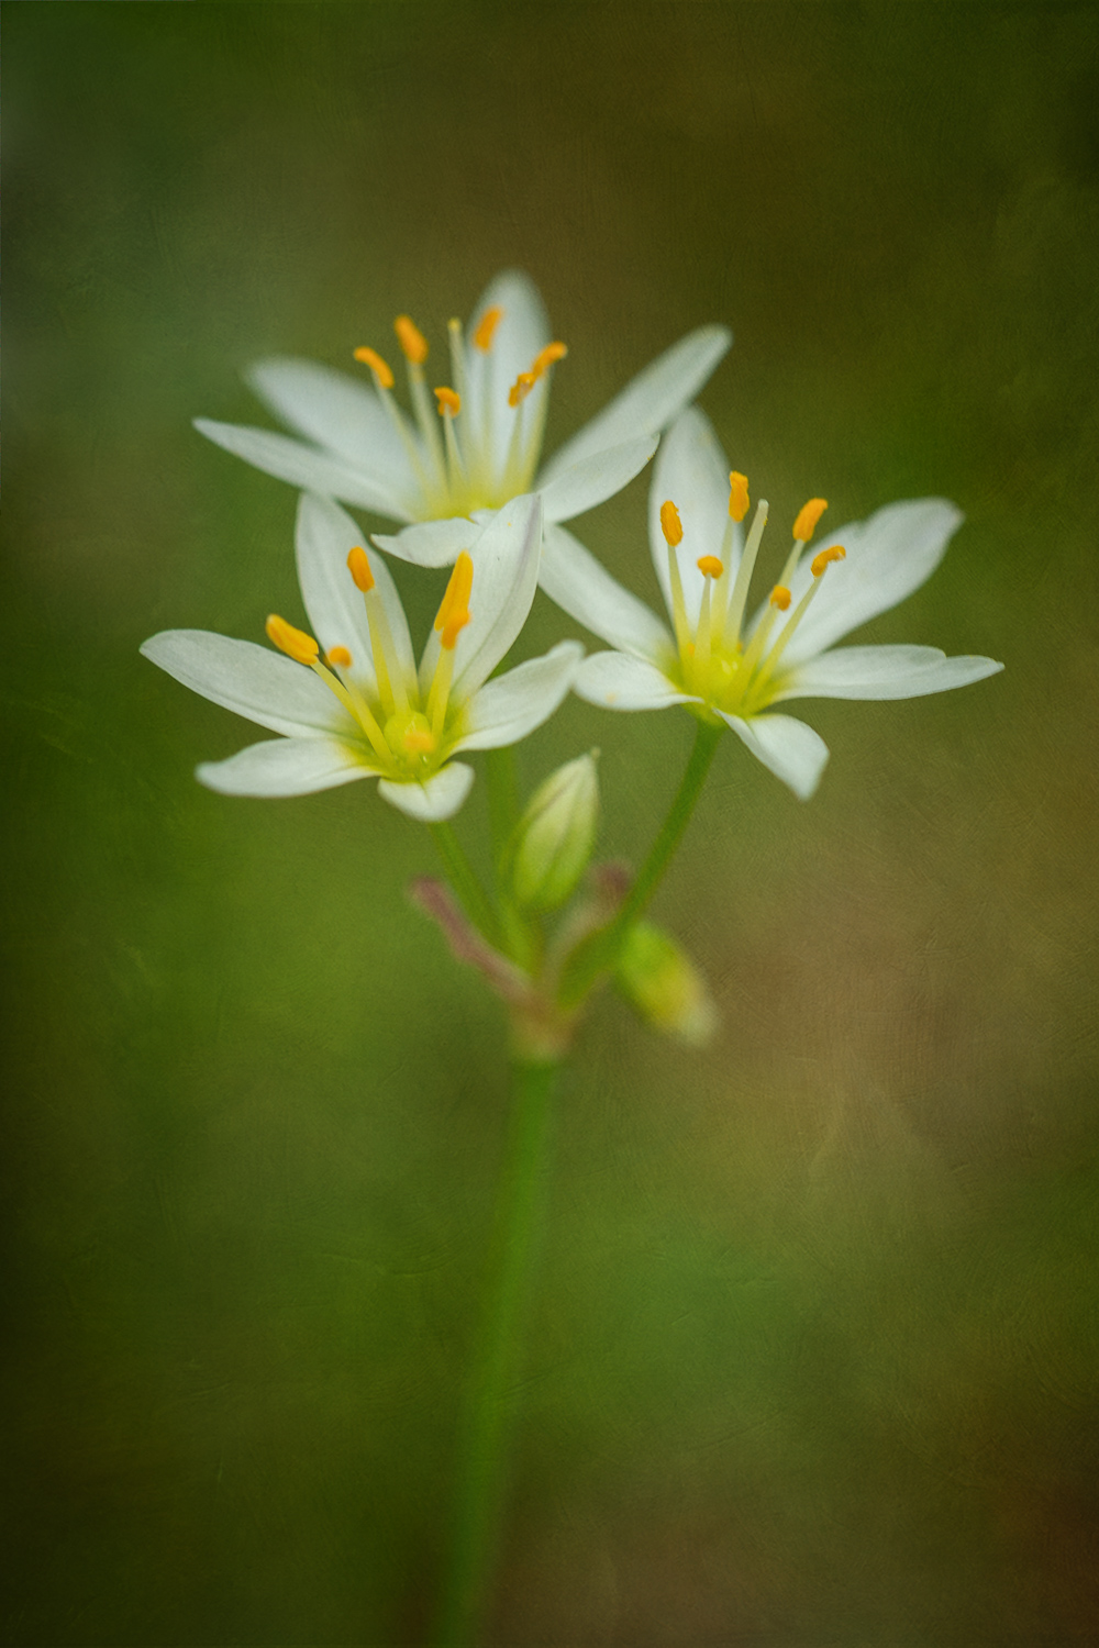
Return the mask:
<path fill-rule="evenodd" d="M 234 641 L 209 630 L 161 630 L 143 643 L 142 656 L 193 692 L 272 732 L 308 738 L 320 732 L 356 730 L 311 669 L 252 641 Z"/>

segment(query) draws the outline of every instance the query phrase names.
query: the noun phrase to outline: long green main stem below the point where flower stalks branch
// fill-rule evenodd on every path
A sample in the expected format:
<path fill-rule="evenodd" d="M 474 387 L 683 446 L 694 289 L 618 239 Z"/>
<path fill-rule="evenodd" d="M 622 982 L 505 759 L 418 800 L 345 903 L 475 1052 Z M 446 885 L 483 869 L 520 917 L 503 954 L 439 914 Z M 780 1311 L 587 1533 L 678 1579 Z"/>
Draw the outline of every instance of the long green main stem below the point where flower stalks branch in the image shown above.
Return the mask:
<path fill-rule="evenodd" d="M 484 1612 L 507 1488 L 506 1444 L 514 1421 L 511 1393 L 519 1373 L 522 1307 L 559 1070 L 554 1063 L 516 1061 L 514 1066 L 514 1104 L 496 1203 L 489 1284 L 458 1434 L 450 1557 L 432 1638 L 437 1648 L 471 1648 Z"/>

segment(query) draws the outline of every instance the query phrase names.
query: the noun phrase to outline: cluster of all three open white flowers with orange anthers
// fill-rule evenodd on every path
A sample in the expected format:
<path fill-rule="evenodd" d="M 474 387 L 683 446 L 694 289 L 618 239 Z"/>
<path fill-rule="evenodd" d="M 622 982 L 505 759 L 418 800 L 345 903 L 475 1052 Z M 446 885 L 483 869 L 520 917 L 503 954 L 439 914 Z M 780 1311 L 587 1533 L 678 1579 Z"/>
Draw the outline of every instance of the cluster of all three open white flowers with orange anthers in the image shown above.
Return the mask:
<path fill-rule="evenodd" d="M 198 630 L 170 630 L 142 648 L 185 686 L 280 735 L 199 766 L 209 788 L 292 796 L 372 776 L 400 811 L 440 822 L 473 781 L 455 756 L 516 743 L 573 689 L 606 709 L 684 704 L 727 723 L 807 798 L 827 748 L 773 705 L 916 697 L 1002 667 L 926 646 L 832 649 L 934 572 L 962 519 L 936 498 L 840 527 L 814 554 L 807 544 L 825 504 L 811 501 L 779 583 L 748 616 L 768 506 L 758 503 L 741 542 L 746 478 L 730 471 L 690 405 L 732 343 L 723 326 L 667 349 L 540 470 L 550 379 L 567 351 L 524 275 L 499 275 L 468 326 L 450 323 L 450 384 L 428 389 L 428 344 L 407 315 L 395 333 L 412 417 L 387 361 L 364 346 L 354 354 L 371 381 L 293 359 L 254 369 L 259 396 L 303 438 L 198 422 L 221 447 L 302 488 L 297 564 L 311 626 L 272 615 L 275 651 Z M 620 491 L 657 443 L 649 537 L 671 631 L 562 526 Z M 367 549 L 336 499 L 400 531 L 372 534 Z M 381 552 L 453 565 L 419 667 Z M 539 583 L 613 651 L 585 658 L 578 641 L 562 641 L 493 676 Z"/>

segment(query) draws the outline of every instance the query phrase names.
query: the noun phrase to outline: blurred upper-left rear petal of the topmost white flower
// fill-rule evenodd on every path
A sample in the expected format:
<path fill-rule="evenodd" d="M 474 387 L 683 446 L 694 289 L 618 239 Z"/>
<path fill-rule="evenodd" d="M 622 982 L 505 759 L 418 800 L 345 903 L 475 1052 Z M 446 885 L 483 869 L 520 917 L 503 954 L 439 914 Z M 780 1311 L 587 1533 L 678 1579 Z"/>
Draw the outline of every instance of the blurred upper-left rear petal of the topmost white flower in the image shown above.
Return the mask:
<path fill-rule="evenodd" d="M 288 356 L 257 361 L 247 381 L 277 417 L 361 470 L 387 496 L 409 503 L 419 491 L 409 452 L 372 384 Z"/>

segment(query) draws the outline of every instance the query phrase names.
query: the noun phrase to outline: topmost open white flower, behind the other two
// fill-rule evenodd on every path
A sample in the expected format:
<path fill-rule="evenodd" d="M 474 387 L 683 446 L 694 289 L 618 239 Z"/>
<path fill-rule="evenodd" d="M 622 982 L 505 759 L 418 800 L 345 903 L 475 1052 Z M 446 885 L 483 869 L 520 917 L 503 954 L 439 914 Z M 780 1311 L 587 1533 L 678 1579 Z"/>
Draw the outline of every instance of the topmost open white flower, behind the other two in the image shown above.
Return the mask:
<path fill-rule="evenodd" d="M 549 382 L 567 353 L 526 275 L 506 272 L 481 297 L 465 333 L 450 321 L 450 377 L 428 391 L 428 346 L 407 315 L 395 321 L 414 419 L 394 374 L 371 348 L 354 354 L 372 387 L 310 361 L 260 361 L 250 382 L 310 445 L 270 430 L 196 419 L 196 428 L 269 475 L 410 524 L 379 547 L 422 567 L 468 549 L 475 511 L 539 491 L 547 521 L 568 521 L 613 496 L 649 461 L 661 430 L 687 405 L 732 343 L 702 326 L 651 363 L 573 435 L 535 480 Z"/>

